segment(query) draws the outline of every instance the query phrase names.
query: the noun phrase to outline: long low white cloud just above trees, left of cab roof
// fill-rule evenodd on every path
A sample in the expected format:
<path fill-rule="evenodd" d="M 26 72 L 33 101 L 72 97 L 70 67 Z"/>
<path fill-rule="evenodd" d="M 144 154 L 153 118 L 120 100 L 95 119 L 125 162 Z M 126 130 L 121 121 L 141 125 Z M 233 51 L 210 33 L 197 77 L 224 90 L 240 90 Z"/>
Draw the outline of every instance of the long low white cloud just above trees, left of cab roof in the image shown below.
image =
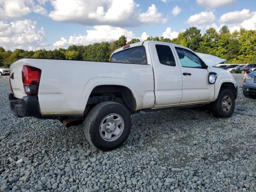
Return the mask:
<path fill-rule="evenodd" d="M 127 40 L 131 40 L 132 38 L 136 38 L 133 32 L 128 31 L 124 28 L 113 27 L 108 25 L 102 26 L 94 26 L 93 30 L 86 30 L 87 35 L 74 35 L 70 36 L 69 39 L 64 37 L 60 38 L 59 41 L 53 44 L 54 47 L 67 47 L 69 45 L 88 45 L 95 42 L 103 42 L 103 41 L 113 41 L 117 40 L 120 36 L 124 35 L 127 37 Z M 143 34 L 145 37 L 146 34 Z"/>

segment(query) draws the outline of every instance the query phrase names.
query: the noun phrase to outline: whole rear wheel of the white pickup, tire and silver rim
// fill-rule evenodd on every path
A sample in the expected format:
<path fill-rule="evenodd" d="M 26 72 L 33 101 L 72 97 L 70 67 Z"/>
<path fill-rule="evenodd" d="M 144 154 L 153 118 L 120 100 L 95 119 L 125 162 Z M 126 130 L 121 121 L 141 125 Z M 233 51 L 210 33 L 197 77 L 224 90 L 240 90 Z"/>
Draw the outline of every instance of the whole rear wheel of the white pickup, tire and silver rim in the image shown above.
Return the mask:
<path fill-rule="evenodd" d="M 88 113 L 84 134 L 90 144 L 103 151 L 121 146 L 131 130 L 129 111 L 115 102 L 102 102 Z"/>

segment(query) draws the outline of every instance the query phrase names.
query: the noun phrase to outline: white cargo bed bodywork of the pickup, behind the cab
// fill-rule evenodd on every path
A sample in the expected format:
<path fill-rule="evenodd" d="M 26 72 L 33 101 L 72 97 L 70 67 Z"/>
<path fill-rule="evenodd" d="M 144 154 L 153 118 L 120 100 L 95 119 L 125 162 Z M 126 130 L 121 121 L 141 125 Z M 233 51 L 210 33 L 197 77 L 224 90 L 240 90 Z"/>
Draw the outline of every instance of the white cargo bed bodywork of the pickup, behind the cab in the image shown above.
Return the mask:
<path fill-rule="evenodd" d="M 26 96 L 22 66 L 42 70 L 38 90 L 40 112 L 44 115 L 83 114 L 90 92 L 99 85 L 124 85 L 134 90 L 136 110 L 154 106 L 154 77 L 151 65 L 112 62 L 24 58 L 10 67 L 14 97 Z"/>

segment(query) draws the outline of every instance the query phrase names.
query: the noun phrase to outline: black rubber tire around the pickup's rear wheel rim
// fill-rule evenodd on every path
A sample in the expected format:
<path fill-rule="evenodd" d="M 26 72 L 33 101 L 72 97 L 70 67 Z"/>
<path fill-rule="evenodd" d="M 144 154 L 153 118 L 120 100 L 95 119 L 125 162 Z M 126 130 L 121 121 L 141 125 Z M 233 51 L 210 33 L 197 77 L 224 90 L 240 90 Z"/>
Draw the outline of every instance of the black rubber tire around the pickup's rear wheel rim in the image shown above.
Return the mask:
<path fill-rule="evenodd" d="M 124 121 L 123 131 L 113 141 L 106 141 L 102 138 L 100 126 L 104 118 L 110 114 L 118 114 Z M 131 130 L 131 117 L 128 109 L 115 102 L 102 102 L 88 113 L 85 119 L 84 134 L 90 144 L 103 151 L 111 151 L 121 146 Z"/>

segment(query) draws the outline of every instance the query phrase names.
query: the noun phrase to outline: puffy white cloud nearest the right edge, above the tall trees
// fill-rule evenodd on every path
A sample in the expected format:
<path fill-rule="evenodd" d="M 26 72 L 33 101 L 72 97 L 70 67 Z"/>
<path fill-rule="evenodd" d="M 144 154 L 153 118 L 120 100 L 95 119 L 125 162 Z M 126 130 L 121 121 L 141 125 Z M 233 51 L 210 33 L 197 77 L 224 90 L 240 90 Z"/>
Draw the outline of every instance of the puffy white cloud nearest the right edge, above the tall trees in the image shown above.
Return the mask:
<path fill-rule="evenodd" d="M 249 9 L 243 9 L 242 11 L 228 12 L 220 16 L 220 23 L 234 24 L 243 22 L 246 19 L 252 18 L 253 13 L 250 13 Z"/>

